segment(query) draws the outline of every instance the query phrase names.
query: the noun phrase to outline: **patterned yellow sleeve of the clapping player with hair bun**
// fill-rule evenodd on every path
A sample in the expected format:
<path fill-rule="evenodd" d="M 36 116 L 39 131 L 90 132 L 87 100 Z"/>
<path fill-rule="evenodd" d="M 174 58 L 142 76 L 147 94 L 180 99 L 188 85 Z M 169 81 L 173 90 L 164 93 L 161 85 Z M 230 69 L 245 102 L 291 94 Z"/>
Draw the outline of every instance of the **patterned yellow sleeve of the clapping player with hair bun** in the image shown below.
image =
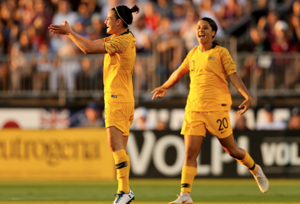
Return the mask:
<path fill-rule="evenodd" d="M 105 39 L 105 38 L 104 38 Z M 103 39 L 103 41 L 104 41 Z M 109 41 L 104 41 L 103 46 L 108 54 L 113 53 L 123 53 L 129 47 L 131 41 L 127 40 L 122 36 L 118 36 L 110 39 Z"/>

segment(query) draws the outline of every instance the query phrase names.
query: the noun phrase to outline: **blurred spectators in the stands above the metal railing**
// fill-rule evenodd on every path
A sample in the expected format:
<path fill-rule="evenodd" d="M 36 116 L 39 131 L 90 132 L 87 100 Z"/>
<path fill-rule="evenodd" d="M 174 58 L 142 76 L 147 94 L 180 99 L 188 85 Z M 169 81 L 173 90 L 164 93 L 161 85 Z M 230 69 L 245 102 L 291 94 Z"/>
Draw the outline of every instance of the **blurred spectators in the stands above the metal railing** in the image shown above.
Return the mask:
<path fill-rule="evenodd" d="M 298 0 L 2 0 L 0 55 L 49 53 L 62 57 L 81 53 L 67 38 L 49 34 L 48 26 L 66 20 L 91 40 L 104 38 L 107 13 L 120 4 L 137 4 L 141 9 L 130 26 L 138 53 L 149 54 L 156 49 L 153 41 L 173 36 L 182 38 L 185 51 L 189 51 L 198 45 L 195 28 L 203 17 L 217 23 L 218 38 L 237 37 L 238 51 L 300 49 Z"/>

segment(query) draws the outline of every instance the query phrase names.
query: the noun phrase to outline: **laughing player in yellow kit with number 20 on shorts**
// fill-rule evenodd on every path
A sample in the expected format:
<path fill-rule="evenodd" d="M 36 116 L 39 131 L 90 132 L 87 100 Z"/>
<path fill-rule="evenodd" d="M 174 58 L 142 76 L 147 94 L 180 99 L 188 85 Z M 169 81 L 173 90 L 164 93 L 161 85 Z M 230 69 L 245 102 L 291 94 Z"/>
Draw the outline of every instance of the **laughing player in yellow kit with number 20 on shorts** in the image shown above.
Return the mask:
<path fill-rule="evenodd" d="M 175 85 L 189 71 L 190 92 L 185 107 L 184 122 L 181 134 L 184 135 L 185 161 L 181 173 L 181 192 L 177 200 L 170 204 L 192 204 L 190 192 L 197 174 L 197 156 L 206 132 L 220 141 L 224 150 L 238 162 L 246 166 L 255 177 L 260 190 L 267 193 L 269 182 L 260 166 L 256 165 L 250 155 L 236 146 L 228 111 L 231 109 L 231 95 L 226 82 L 229 76 L 231 83 L 246 100 L 238 113 L 245 113 L 251 105 L 251 97 L 236 73 L 235 63 L 227 49 L 218 46 L 212 38 L 217 32 L 215 22 L 210 18 L 198 21 L 196 36 L 199 46 L 192 49 L 180 67 L 172 73 L 161 87 L 151 93 L 152 100 L 163 97 L 168 88 Z"/>

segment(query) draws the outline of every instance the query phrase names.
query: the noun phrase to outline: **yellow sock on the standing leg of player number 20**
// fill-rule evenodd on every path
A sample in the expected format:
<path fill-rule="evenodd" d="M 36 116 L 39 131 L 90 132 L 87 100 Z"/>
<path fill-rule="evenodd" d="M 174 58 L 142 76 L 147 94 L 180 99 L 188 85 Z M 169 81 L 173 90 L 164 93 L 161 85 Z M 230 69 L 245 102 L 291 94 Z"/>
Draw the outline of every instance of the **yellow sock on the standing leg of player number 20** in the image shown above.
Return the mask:
<path fill-rule="evenodd" d="M 197 174 L 196 167 L 183 166 L 181 173 L 181 193 L 191 193 L 194 177 Z"/>

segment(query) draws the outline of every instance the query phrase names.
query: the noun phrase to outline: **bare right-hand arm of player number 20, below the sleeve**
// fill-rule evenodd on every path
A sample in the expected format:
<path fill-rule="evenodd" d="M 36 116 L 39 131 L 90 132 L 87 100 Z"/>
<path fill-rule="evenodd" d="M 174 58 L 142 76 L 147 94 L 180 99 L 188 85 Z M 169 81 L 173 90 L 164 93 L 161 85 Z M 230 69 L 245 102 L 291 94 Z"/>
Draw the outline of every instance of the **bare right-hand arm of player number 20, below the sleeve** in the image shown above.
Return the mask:
<path fill-rule="evenodd" d="M 236 89 L 242 94 L 242 96 L 246 99 L 240 104 L 239 108 L 242 108 L 244 106 L 244 109 L 241 109 L 238 111 L 238 114 L 242 115 L 245 113 L 251 105 L 252 98 L 249 95 L 247 88 L 244 86 L 242 81 L 240 80 L 240 77 L 237 75 L 237 73 L 229 75 L 229 79 L 231 81 L 231 84 L 236 87 Z"/>

